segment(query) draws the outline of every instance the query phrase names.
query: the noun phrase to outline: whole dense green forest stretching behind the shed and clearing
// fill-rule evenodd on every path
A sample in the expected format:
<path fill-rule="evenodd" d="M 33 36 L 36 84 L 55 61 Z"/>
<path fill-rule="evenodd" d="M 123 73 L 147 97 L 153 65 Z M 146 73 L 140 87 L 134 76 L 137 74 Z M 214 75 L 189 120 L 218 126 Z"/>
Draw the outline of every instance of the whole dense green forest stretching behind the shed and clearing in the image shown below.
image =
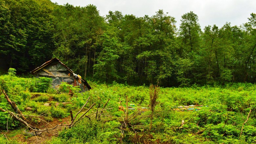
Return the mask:
<path fill-rule="evenodd" d="M 193 11 L 137 17 L 50 0 L 1 0 L 0 72 L 27 74 L 56 57 L 85 79 L 128 85 L 255 83 L 256 14 L 201 28 Z"/>

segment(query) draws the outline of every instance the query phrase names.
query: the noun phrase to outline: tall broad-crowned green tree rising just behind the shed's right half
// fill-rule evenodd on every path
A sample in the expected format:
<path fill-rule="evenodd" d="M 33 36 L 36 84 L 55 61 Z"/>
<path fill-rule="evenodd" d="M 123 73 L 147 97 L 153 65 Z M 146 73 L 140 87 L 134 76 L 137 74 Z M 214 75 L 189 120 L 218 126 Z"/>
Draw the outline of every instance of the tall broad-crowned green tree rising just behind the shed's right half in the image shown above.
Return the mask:
<path fill-rule="evenodd" d="M 96 49 L 100 49 L 97 43 L 105 29 L 104 19 L 94 5 L 74 7 L 65 4 L 55 9 L 54 21 L 56 29 L 53 38 L 57 48 L 54 57 L 86 77 L 95 64 Z"/>

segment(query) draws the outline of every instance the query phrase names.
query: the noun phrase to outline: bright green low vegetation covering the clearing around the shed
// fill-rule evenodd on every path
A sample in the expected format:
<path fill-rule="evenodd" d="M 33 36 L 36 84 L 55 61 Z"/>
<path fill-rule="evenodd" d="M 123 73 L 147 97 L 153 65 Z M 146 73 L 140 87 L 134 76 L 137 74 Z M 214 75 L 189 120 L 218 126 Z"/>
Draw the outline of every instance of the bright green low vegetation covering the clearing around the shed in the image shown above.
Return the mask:
<path fill-rule="evenodd" d="M 46 112 L 45 121 L 61 123 L 64 117 L 70 115 L 70 110 L 73 111 L 73 114 L 78 112 L 89 96 L 91 98 L 84 111 L 94 102 L 96 103 L 88 113 L 88 117 L 85 117 L 72 128 L 62 129 L 58 135 L 53 136 L 46 143 L 228 144 L 256 142 L 256 85 L 250 83 L 160 88 L 159 93 L 156 93 L 158 98 L 151 119 L 150 91 L 154 92 L 155 89 L 150 89 L 147 86 L 128 86 L 116 82 L 110 85 L 89 82 L 92 90 L 86 93 L 76 92 L 77 96 L 71 97 L 67 93 L 57 94 L 55 90 L 50 88 L 46 89 L 46 93 L 38 93 L 44 91 L 43 88 L 45 87 L 36 85 L 35 82 L 42 79 L 46 80 L 45 78 L 20 78 L 10 72 L 8 75 L 0 76 L 0 79 L 1 89 L 7 91 L 10 99 L 16 102 L 25 115 L 39 115 Z M 36 93 L 31 93 L 35 90 L 37 90 Z M 128 96 L 128 106 L 135 109 L 128 111 L 127 121 L 125 121 L 124 112 L 118 109 L 120 105 L 126 108 L 126 95 Z M 121 103 L 119 103 L 119 98 Z M 95 114 L 92 113 L 102 110 L 108 99 L 110 100 L 106 108 L 113 109 L 106 110 L 101 114 L 98 113 L 96 119 Z M 64 105 L 62 102 L 71 102 L 72 104 Z M 51 105 L 46 107 L 43 105 L 45 103 Z M 56 103 L 59 105 L 56 106 Z M 194 110 L 180 111 L 178 108 L 189 105 L 189 108 L 194 108 Z M 13 111 L 4 99 L 4 95 L 1 95 L 0 106 L 3 109 Z M 27 107 L 31 107 L 32 111 L 25 111 Z M 147 110 L 143 108 L 147 108 Z M 15 134 L 20 134 L 25 128 L 24 125 L 13 120 L 8 116 L 8 113 L 0 112 L 0 115 L 1 142 L 22 143 L 19 142 L 20 139 L 10 138 L 15 137 Z M 29 120 L 33 121 L 35 125 L 41 123 L 37 118 L 30 118 Z M 184 121 L 183 125 L 182 120 Z M 7 132 L 7 121 L 10 132 L 6 135 L 10 142 L 3 135 Z M 150 129 L 150 127 L 152 128 Z M 11 135 L 12 131 L 18 133 Z M 26 135 L 22 137 L 29 139 Z"/>

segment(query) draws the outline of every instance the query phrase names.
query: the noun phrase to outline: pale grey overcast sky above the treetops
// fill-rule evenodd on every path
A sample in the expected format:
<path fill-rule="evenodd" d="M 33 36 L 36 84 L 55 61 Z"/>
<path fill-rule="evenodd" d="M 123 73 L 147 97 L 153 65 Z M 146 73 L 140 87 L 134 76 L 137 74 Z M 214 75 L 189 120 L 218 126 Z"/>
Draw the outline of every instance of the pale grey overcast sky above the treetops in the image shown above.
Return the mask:
<path fill-rule="evenodd" d="M 175 17 L 176 26 L 180 26 L 181 16 L 189 11 L 198 15 L 203 29 L 216 24 L 221 28 L 226 22 L 231 26 L 240 26 L 248 22 L 250 13 L 256 13 L 256 0 L 51 0 L 59 5 L 66 3 L 85 7 L 93 4 L 101 16 L 108 11 L 121 11 L 123 15 L 133 14 L 137 17 L 152 16 L 162 9 L 167 15 Z"/>

